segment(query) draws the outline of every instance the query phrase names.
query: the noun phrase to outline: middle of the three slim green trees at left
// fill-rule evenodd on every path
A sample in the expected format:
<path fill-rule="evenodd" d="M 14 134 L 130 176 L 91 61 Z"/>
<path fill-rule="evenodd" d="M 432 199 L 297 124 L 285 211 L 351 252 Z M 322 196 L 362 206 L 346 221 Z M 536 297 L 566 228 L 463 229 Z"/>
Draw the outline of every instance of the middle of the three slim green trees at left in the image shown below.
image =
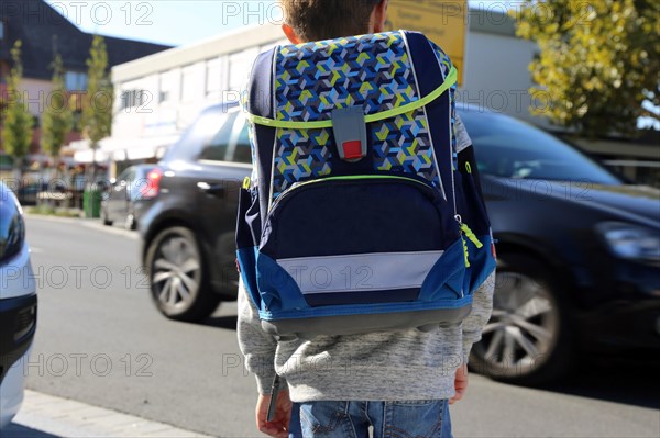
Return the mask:
<path fill-rule="evenodd" d="M 55 160 L 57 168 L 59 149 L 67 134 L 74 127 L 74 114 L 68 104 L 68 94 L 64 86 L 62 57 L 53 60 L 53 91 L 46 99 L 46 109 L 42 119 L 41 145 L 43 150 Z"/>

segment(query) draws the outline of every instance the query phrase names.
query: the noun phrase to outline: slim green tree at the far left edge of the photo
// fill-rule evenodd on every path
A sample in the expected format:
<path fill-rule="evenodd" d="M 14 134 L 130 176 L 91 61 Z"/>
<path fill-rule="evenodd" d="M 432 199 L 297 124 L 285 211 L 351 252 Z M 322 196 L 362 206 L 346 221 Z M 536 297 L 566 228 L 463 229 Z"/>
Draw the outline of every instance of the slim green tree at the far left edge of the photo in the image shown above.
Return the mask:
<path fill-rule="evenodd" d="M 2 148 L 12 158 L 14 167 L 22 170 L 22 162 L 28 155 L 34 126 L 34 117 L 28 111 L 23 99 L 21 80 L 23 63 L 21 61 L 21 41 L 16 41 L 11 49 L 13 66 L 7 80 L 7 102 L 2 106 Z M 4 103 L 4 102 L 3 102 Z"/>

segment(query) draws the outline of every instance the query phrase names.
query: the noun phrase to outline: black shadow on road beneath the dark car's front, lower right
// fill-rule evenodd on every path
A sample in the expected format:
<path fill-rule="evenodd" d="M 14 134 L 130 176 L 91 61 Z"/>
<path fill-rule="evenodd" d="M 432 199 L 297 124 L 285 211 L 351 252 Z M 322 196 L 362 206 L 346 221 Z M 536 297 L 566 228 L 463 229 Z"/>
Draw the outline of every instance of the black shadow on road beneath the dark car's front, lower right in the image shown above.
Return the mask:
<path fill-rule="evenodd" d="M 660 409 L 657 363 L 588 362 L 548 391 Z"/>

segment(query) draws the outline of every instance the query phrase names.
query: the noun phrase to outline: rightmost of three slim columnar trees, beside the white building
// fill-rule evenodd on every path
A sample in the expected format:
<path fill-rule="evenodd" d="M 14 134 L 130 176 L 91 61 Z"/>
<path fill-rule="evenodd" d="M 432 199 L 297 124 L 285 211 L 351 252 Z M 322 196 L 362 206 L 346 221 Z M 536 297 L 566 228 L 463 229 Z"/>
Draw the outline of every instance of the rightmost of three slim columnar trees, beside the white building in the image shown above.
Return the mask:
<path fill-rule="evenodd" d="M 87 59 L 87 94 L 80 120 L 82 134 L 96 148 L 112 127 L 112 83 L 108 75 L 108 52 L 102 36 L 95 35 Z"/>

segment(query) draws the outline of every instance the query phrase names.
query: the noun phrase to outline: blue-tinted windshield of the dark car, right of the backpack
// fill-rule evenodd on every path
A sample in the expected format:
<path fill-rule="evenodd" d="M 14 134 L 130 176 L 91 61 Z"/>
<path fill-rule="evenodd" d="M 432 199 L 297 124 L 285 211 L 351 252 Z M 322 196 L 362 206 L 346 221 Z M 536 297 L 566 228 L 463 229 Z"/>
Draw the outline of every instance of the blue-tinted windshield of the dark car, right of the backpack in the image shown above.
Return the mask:
<path fill-rule="evenodd" d="M 622 181 L 568 143 L 516 119 L 473 110 L 459 111 L 472 138 L 483 175 L 517 179 Z"/>

